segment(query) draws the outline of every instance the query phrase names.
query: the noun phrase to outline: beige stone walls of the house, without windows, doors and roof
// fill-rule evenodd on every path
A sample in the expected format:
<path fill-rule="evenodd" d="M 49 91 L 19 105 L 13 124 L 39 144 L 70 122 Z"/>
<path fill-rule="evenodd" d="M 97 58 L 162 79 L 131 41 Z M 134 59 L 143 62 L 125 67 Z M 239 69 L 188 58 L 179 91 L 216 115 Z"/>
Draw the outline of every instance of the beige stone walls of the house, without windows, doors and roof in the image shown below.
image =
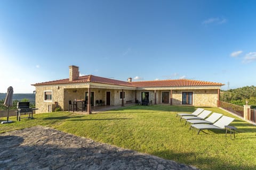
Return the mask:
<path fill-rule="evenodd" d="M 72 84 L 60 85 L 60 86 L 37 86 L 36 87 L 36 108 L 38 110 L 36 113 L 52 112 L 55 107 L 58 106 L 62 111 L 68 111 L 68 101 L 74 101 L 75 99 L 85 100 L 85 92 L 87 92 L 88 84 L 83 84 L 81 87 L 76 87 Z M 44 101 L 44 91 L 52 91 L 52 100 Z M 94 106 L 96 106 L 96 100 L 104 100 L 106 104 L 106 92 L 110 91 L 110 105 L 121 105 L 122 99 L 120 98 L 120 92 L 122 89 L 102 89 L 102 88 L 91 88 L 91 92 L 94 92 Z M 136 96 L 139 101 L 141 101 L 141 92 L 149 92 L 149 101 L 155 104 L 155 90 L 136 90 Z M 162 92 L 168 91 L 170 97 L 170 90 L 156 90 L 156 104 L 162 103 Z M 193 92 L 193 106 L 209 106 L 217 107 L 218 100 L 218 89 L 193 89 L 190 90 L 172 90 L 172 104 L 181 105 L 182 104 L 182 92 L 191 91 Z M 125 98 L 124 104 L 127 100 L 135 101 L 135 90 L 124 90 Z M 169 103 L 171 100 L 169 99 Z M 49 111 L 49 106 L 51 110 Z"/>

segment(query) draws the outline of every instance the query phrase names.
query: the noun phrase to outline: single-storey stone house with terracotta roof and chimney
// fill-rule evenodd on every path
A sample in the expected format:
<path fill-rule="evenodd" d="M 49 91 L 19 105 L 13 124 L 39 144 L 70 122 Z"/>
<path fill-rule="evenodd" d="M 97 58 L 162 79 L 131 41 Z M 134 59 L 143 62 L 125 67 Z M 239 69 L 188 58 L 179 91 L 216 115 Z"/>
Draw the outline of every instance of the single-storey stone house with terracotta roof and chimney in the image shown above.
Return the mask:
<path fill-rule="evenodd" d="M 79 77 L 79 67 L 69 66 L 69 78 L 32 84 L 36 88 L 36 113 L 52 112 L 56 105 L 68 111 L 69 101 L 84 100 L 87 113 L 99 100 L 104 105 L 125 105 L 147 100 L 152 104 L 217 107 L 224 84 L 197 80 L 127 81 L 95 75 Z M 86 106 L 85 105 L 85 106 Z"/>

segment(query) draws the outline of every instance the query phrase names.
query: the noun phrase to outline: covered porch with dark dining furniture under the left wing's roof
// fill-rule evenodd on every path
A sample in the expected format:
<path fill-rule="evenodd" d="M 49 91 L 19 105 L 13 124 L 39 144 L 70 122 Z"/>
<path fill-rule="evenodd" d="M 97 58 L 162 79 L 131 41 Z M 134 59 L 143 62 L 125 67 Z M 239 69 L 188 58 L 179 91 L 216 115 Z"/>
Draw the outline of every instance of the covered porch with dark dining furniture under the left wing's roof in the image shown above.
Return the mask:
<path fill-rule="evenodd" d="M 102 84 L 101 84 L 102 85 Z M 91 114 L 135 103 L 135 90 L 124 87 L 87 86 L 63 89 L 63 111 Z M 74 109 L 74 111 L 73 111 Z"/>

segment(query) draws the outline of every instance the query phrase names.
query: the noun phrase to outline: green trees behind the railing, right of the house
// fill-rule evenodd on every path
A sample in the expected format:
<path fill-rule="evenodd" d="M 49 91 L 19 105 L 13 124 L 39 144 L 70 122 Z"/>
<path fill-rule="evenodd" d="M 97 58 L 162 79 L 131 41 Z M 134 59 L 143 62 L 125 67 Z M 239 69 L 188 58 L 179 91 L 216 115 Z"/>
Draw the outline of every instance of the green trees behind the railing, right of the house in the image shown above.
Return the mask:
<path fill-rule="evenodd" d="M 256 106 L 256 87 L 246 86 L 237 89 L 221 90 L 220 100 L 228 103 L 243 106 L 248 102 L 248 105 Z"/>

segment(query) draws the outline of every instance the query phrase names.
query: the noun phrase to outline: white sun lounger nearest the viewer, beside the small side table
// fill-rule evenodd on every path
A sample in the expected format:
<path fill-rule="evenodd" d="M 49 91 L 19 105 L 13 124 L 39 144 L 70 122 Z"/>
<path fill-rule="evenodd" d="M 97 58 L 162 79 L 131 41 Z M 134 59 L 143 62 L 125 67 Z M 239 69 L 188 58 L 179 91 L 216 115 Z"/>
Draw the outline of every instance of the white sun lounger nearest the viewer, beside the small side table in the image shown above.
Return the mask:
<path fill-rule="evenodd" d="M 235 118 L 233 118 L 233 117 L 222 116 L 214 124 L 192 124 L 191 127 L 198 129 L 197 134 L 199 134 L 199 132 L 204 129 L 224 129 L 225 126 L 229 125 L 234 120 L 235 120 Z"/>

